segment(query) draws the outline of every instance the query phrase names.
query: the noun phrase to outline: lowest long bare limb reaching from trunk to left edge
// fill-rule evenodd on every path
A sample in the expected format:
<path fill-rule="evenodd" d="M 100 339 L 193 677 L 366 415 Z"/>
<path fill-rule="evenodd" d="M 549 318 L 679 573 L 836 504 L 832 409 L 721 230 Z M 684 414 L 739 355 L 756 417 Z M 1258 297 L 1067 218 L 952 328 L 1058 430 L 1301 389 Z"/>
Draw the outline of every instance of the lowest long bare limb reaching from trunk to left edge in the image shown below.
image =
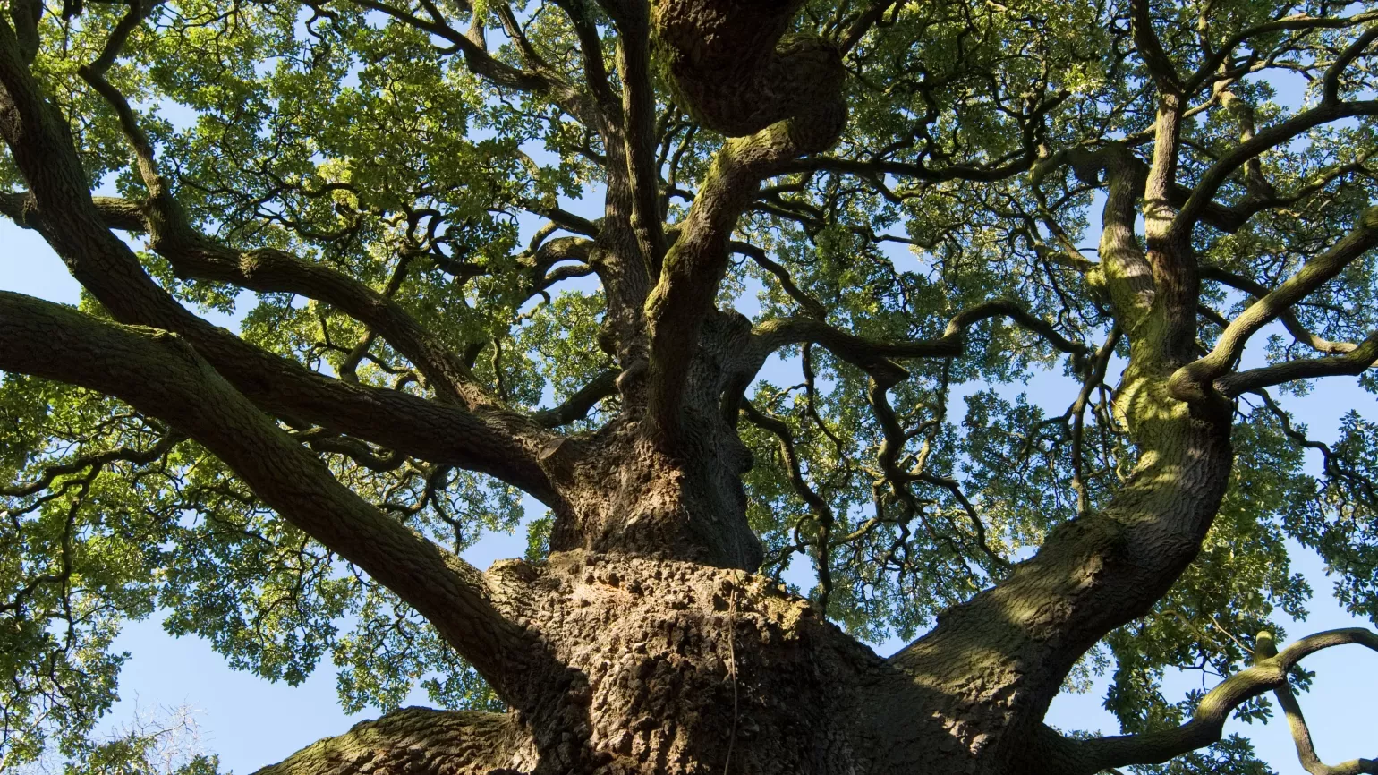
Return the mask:
<path fill-rule="evenodd" d="M 520 659 L 522 636 L 493 608 L 482 572 L 340 484 L 183 338 L 0 292 L 0 370 L 80 385 L 168 422 L 273 510 L 416 608 L 496 685 Z"/>

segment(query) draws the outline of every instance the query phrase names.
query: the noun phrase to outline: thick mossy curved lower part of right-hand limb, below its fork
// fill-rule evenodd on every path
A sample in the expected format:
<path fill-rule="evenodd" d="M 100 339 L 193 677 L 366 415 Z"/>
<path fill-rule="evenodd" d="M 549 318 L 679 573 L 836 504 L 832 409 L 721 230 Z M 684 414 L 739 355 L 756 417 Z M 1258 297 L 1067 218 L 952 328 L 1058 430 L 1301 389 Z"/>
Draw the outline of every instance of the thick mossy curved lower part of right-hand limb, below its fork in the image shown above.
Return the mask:
<path fill-rule="evenodd" d="M 1199 554 L 1229 483 L 1231 415 L 1192 412 L 1167 396 L 1160 350 L 1145 345 L 1152 335 L 1127 334 L 1130 364 L 1115 396 L 1138 448 L 1123 487 L 1057 524 L 1034 557 L 889 661 L 937 705 L 971 718 L 959 742 L 996 761 L 1028 761 L 1031 734 L 1076 659 L 1162 598 Z"/>

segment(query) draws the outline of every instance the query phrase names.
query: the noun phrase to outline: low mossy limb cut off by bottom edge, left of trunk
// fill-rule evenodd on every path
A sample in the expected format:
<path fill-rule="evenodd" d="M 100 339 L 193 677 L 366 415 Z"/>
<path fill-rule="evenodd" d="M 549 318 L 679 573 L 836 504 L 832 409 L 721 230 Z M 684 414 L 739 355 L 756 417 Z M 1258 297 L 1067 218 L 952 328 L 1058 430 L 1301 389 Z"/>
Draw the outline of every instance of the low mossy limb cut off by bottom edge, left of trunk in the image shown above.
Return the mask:
<path fill-rule="evenodd" d="M 525 772 L 535 760 L 531 738 L 510 714 L 404 707 L 254 775 L 488 775 Z"/>

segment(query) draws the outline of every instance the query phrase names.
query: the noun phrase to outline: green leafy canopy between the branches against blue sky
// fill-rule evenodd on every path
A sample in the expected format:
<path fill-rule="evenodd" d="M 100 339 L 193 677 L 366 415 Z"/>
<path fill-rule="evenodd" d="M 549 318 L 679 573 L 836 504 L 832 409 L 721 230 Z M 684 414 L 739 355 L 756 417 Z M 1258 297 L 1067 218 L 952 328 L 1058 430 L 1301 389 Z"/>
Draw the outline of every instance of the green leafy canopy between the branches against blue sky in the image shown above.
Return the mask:
<path fill-rule="evenodd" d="M 497 63 L 535 58 L 579 83 L 580 30 L 564 6 L 423 1 L 407 14 L 473 17 Z M 810 563 L 814 578 L 828 581 L 802 592 L 858 637 L 908 638 L 930 627 L 1079 510 L 1105 506 L 1137 462 L 1115 393 L 1129 346 L 1104 292 L 1065 255 L 1090 252 L 1102 182 L 1073 165 L 1034 171 L 1061 149 L 1146 148 L 1151 73 L 1133 54 L 1127 7 L 886 4 L 846 59 L 842 138 L 816 163 L 772 179 L 737 225 L 734 239 L 768 258 L 740 252 L 718 294 L 752 324 L 813 303 L 857 336 L 933 339 L 960 310 L 1013 298 L 1061 336 L 1102 350 L 1097 375 L 1096 356 L 1068 356 L 996 319 L 971 330 L 962 357 L 905 361 L 908 379 L 879 399 L 874 374 L 821 346 L 791 346 L 772 361 L 747 400 L 780 423 L 792 451 L 766 425 L 739 423 L 754 456 L 744 485 L 748 520 L 766 546 L 763 571 L 780 576 L 791 563 Z M 599 348 L 610 302 L 593 269 L 573 254 L 542 252 L 553 233 L 577 236 L 597 218 L 584 214 L 606 192 L 609 149 L 568 106 L 495 85 L 459 44 L 380 8 L 391 6 L 157 4 L 107 79 L 205 234 L 356 279 L 424 321 L 506 405 L 555 407 L 617 367 Z M 835 39 L 853 11 L 813 0 L 795 23 Z M 583 12 L 610 66 L 609 19 L 593 7 Z M 1215 0 L 1156 3 L 1152 12 L 1186 73 L 1250 25 L 1341 10 Z M 116 110 L 77 72 L 124 14 L 107 3 L 80 15 L 48 12 L 33 69 L 69 119 L 92 186 L 143 200 L 149 182 L 130 160 Z M 511 29 L 518 22 L 521 41 Z M 1327 62 L 1364 29 L 1251 39 L 1253 70 L 1222 80 L 1185 123 L 1178 178 L 1195 185 L 1240 142 L 1242 112 L 1253 134 L 1315 106 Z M 532 51 L 518 46 L 528 40 Z M 656 83 L 659 174 L 666 221 L 677 223 L 723 138 L 677 105 L 664 81 Z M 1364 57 L 1342 90 L 1363 95 L 1375 85 Z M 1218 199 L 1258 194 L 1257 172 L 1280 204 L 1233 230 L 1199 225 L 1202 265 L 1276 287 L 1360 217 L 1374 196 L 1367 163 L 1375 152 L 1368 116 L 1272 148 L 1257 170 L 1226 179 Z M 4 154 L 0 186 L 25 188 Z M 360 385 L 435 397 L 416 364 L 339 306 L 187 277 L 149 240 L 135 244 L 164 288 L 193 309 L 233 313 L 247 342 Z M 1218 335 L 1210 321 L 1253 298 L 1218 281 L 1203 294 L 1209 349 Z M 1375 296 L 1374 259 L 1364 255 L 1298 302 L 1294 317 L 1316 336 L 1360 341 L 1378 328 Z M 92 299 L 84 308 L 106 314 Z M 1250 359 L 1306 354 L 1294 332 L 1269 332 Z M 1366 376 L 1364 386 L 1375 382 Z M 1236 466 L 1200 560 L 1151 615 L 1097 651 L 1113 677 L 1107 706 L 1126 732 L 1189 716 L 1199 698 L 1166 698 L 1169 672 L 1228 676 L 1250 662 L 1254 633 L 1279 630 L 1279 612 L 1305 614 L 1310 590 L 1288 564 L 1298 545 L 1326 560 L 1349 611 L 1378 622 L 1378 429 L 1350 414 L 1335 444 L 1319 444 L 1290 415 L 1305 383 L 1284 390 L 1276 401 L 1250 393 L 1235 404 Z M 599 427 L 617 416 L 619 400 L 606 396 L 569 430 Z M 886 410 L 903 437 L 889 462 Z M 460 552 L 485 531 L 524 527 L 528 503 L 513 484 L 280 419 L 340 481 L 440 545 Z M 915 473 L 897 484 L 892 469 Z M 395 707 L 415 687 L 442 706 L 500 706 L 393 593 L 281 520 L 196 441 L 113 399 L 6 375 L 0 479 L 0 761 L 34 761 L 54 746 L 113 752 L 116 743 L 90 749 L 88 739 L 116 699 L 125 658 L 110 644 L 121 622 L 158 610 L 169 633 L 204 637 L 232 666 L 267 680 L 295 684 L 332 659 L 349 710 Z M 548 552 L 550 519 L 525 527 L 537 560 Z M 1269 709 L 1254 702 L 1237 713 L 1264 718 Z M 1145 772 L 1266 769 L 1237 738 L 1192 756 Z"/>

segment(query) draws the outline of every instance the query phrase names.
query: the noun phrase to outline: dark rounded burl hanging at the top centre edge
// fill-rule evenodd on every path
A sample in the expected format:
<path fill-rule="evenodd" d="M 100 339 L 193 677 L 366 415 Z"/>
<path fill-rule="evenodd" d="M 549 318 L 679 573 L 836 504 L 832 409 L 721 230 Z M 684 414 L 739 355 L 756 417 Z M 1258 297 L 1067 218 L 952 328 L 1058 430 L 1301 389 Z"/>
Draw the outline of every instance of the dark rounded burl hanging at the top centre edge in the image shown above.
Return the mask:
<path fill-rule="evenodd" d="M 681 106 L 728 137 L 784 123 L 795 156 L 832 145 L 846 124 L 842 57 L 831 41 L 787 33 L 798 0 L 660 0 L 657 54 Z"/>

